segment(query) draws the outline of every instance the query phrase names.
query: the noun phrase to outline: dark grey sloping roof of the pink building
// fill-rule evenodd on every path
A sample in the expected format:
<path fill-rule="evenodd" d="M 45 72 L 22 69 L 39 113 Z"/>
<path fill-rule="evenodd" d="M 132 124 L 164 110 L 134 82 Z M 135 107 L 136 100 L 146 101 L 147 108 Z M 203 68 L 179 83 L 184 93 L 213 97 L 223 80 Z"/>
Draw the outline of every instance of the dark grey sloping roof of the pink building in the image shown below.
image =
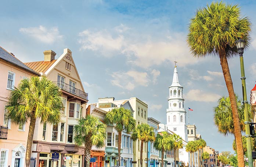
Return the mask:
<path fill-rule="evenodd" d="M 14 55 L 12 55 L 11 53 L 9 53 L 5 49 L 3 49 L 1 46 L 0 46 L 0 59 L 2 59 L 4 61 L 7 61 L 7 62 L 10 62 L 11 64 L 17 65 L 18 67 L 26 69 L 26 70 L 28 70 L 28 71 L 36 74 L 36 75 L 39 75 L 33 69 L 26 66 L 23 62 L 21 62 Z"/>

